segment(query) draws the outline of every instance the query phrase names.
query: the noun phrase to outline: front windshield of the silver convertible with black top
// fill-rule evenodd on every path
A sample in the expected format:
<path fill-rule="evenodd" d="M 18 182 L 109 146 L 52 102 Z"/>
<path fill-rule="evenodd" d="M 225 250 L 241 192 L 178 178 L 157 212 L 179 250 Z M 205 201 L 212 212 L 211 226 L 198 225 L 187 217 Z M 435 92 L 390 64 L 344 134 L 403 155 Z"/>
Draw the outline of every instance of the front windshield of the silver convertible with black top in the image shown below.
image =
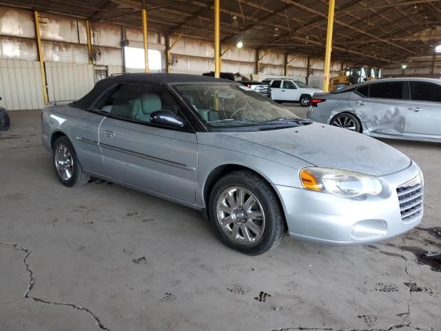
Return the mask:
<path fill-rule="evenodd" d="M 208 126 L 214 128 L 261 126 L 299 119 L 262 94 L 238 84 L 176 84 L 174 89 Z"/>

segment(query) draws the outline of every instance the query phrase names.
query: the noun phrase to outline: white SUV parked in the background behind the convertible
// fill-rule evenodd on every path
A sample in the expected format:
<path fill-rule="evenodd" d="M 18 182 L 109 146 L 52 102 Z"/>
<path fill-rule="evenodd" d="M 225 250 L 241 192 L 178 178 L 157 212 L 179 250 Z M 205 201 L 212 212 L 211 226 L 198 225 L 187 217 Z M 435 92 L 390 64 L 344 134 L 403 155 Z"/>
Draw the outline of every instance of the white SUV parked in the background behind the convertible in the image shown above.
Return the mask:
<path fill-rule="evenodd" d="M 271 86 L 271 99 L 276 102 L 298 102 L 307 107 L 316 92 L 323 92 L 317 88 L 309 88 L 302 81 L 293 79 L 265 79 L 262 83 Z"/>

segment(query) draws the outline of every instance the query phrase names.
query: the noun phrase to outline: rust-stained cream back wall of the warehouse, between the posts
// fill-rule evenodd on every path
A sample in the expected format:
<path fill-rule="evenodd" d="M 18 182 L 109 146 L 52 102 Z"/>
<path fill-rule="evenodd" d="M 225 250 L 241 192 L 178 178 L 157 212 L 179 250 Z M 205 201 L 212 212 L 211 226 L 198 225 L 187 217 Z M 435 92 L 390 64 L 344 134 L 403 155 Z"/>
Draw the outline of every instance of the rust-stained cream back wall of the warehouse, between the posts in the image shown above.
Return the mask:
<path fill-rule="evenodd" d="M 81 97 L 94 86 L 98 79 L 103 77 L 103 70 L 107 75 L 118 74 L 124 70 L 143 72 L 142 69 L 130 68 L 130 63 L 126 63 L 127 68 L 124 68 L 121 46 L 125 41 L 130 47 L 143 48 L 141 29 L 91 22 L 93 65 L 89 65 L 85 20 L 44 12 L 39 14 L 43 61 L 50 101 Z M 170 45 L 176 38 L 176 35 L 170 37 Z M 150 49 L 162 52 L 162 71 L 165 71 L 165 34 L 150 31 L 148 40 Z M 238 49 L 224 44 L 222 50 L 226 50 L 222 59 L 221 71 L 223 72 L 240 72 L 247 77 L 253 76 L 253 79 L 260 80 L 267 77 L 282 77 L 285 73 L 285 54 L 282 52 L 260 50 L 258 54 L 261 58 L 260 70 L 256 74 L 254 72 L 256 61 L 254 48 Z M 171 54 L 172 72 L 202 74 L 214 70 L 214 48 L 211 41 L 183 37 L 174 45 Z M 10 61 L 1 62 L 2 72 L 8 72 L 8 77 L 14 77 L 14 81 L 17 82 L 23 81 L 21 66 L 25 68 L 39 66 L 34 14 L 31 10 L 0 6 L 0 59 L 20 61 L 19 64 Z M 307 68 L 305 56 L 289 54 L 288 59 L 287 77 L 306 81 L 309 72 L 309 85 L 322 88 L 322 59 L 311 59 L 310 68 Z M 331 77 L 338 74 L 338 70 L 344 65 L 340 62 L 333 63 Z M 35 84 L 34 90 L 38 91 L 38 95 L 35 94 L 32 102 L 18 102 L 23 99 L 25 90 L 25 87 L 21 88 L 21 83 L 19 83 L 17 88 L 5 90 L 3 87 L 3 90 L 0 90 L 0 95 L 3 91 L 5 94 L 4 100 L 0 101 L 3 103 L 0 104 L 8 105 L 10 110 L 27 107 L 41 108 L 41 78 L 32 78 L 30 82 L 32 86 Z"/>

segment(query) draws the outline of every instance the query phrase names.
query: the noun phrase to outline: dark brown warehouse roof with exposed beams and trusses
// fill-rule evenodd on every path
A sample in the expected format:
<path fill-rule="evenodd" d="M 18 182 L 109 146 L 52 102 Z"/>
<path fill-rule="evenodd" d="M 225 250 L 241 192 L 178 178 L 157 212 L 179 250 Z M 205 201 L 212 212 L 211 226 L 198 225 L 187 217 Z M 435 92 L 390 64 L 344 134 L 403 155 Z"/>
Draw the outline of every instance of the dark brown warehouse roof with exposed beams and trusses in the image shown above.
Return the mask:
<path fill-rule="evenodd" d="M 3 0 L 1 4 L 141 28 L 142 1 Z M 336 3 L 332 58 L 375 66 L 418 61 L 441 43 L 440 0 L 342 0 Z M 148 1 L 148 28 L 214 39 L 214 1 Z M 220 41 L 322 57 L 328 1 L 223 0 Z"/>

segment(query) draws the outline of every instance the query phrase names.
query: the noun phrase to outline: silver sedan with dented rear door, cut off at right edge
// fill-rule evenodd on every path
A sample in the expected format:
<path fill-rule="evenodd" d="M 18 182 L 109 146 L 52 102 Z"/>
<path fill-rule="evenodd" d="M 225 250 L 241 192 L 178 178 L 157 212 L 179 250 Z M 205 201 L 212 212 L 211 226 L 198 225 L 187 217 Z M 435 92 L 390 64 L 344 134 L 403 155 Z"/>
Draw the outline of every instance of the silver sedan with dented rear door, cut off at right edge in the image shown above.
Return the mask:
<path fill-rule="evenodd" d="M 441 141 L 441 81 L 381 79 L 316 94 L 307 117 L 372 137 Z"/>

